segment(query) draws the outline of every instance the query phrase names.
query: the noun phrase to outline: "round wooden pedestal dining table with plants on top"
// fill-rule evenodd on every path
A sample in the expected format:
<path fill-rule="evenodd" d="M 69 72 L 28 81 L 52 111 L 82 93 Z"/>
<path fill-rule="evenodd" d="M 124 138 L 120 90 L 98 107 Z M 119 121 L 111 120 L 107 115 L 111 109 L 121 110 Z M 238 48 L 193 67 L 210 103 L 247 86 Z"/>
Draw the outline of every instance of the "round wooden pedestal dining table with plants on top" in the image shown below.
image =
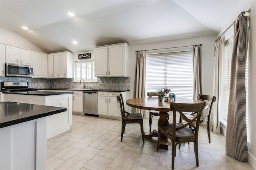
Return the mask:
<path fill-rule="evenodd" d="M 186 99 L 186 98 L 176 98 L 176 103 L 184 103 L 184 104 L 196 104 L 196 103 L 202 103 L 201 100 L 193 100 L 193 99 Z M 138 108 L 138 109 L 145 109 L 145 110 L 156 110 L 159 111 L 159 119 L 158 119 L 158 125 L 162 124 L 168 124 L 169 123 L 169 111 L 172 111 L 170 109 L 172 102 L 158 102 L 158 98 L 133 98 L 126 100 L 126 104 L 128 106 Z M 206 104 L 206 106 L 208 106 Z M 206 109 L 207 107 L 205 107 Z M 175 116 L 173 114 L 173 117 L 176 119 L 176 112 Z M 149 133 L 144 133 L 144 138 L 151 138 L 151 137 L 157 137 L 158 131 L 154 129 L 153 131 Z M 168 149 L 168 143 L 167 138 L 162 135 L 161 143 L 160 143 L 160 149 Z"/>

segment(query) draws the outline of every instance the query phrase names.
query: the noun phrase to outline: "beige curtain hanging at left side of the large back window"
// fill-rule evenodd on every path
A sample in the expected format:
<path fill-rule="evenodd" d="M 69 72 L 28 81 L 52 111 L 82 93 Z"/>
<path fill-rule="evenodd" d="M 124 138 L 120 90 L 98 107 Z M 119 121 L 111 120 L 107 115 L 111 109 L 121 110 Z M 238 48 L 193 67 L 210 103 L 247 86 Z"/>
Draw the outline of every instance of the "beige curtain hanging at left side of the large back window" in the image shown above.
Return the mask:
<path fill-rule="evenodd" d="M 145 81 L 146 81 L 146 51 L 139 51 L 137 52 L 137 57 L 136 57 L 136 72 L 135 72 L 133 98 L 145 97 Z M 145 110 L 132 108 L 132 113 L 143 113 L 143 117 L 146 118 Z"/>

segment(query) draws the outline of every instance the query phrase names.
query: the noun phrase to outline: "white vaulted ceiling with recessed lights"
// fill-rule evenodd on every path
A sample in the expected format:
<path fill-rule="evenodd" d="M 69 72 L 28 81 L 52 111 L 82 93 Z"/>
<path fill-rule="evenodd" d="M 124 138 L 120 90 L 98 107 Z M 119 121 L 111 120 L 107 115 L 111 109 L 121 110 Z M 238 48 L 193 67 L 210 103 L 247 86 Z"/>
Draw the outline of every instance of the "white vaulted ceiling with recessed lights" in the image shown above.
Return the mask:
<path fill-rule="evenodd" d="M 0 27 L 46 53 L 76 53 L 113 43 L 216 35 L 238 16 L 245 1 L 0 0 Z"/>

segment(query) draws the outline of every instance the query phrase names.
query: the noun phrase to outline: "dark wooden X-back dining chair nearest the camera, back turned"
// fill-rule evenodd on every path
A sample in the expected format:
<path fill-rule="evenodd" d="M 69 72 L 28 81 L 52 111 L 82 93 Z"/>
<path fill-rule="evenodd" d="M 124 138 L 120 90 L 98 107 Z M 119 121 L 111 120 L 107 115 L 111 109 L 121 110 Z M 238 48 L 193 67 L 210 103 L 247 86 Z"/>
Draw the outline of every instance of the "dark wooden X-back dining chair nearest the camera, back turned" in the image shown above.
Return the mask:
<path fill-rule="evenodd" d="M 206 102 L 196 103 L 196 104 L 183 104 L 172 102 L 170 110 L 173 111 L 173 121 L 169 124 L 158 125 L 158 141 L 157 141 L 157 151 L 159 150 L 160 139 L 162 134 L 168 137 L 172 141 L 172 169 L 174 169 L 174 158 L 176 156 L 176 146 L 181 143 L 193 142 L 194 143 L 194 152 L 196 155 L 196 166 L 199 166 L 198 163 L 198 131 L 200 117 L 202 111 L 206 105 Z M 176 123 L 176 112 L 178 112 L 182 119 L 186 123 Z M 186 117 L 184 112 L 197 112 L 194 119 L 190 120 Z M 196 121 L 196 124 L 194 124 Z M 191 126 L 190 129 L 188 126 Z"/>

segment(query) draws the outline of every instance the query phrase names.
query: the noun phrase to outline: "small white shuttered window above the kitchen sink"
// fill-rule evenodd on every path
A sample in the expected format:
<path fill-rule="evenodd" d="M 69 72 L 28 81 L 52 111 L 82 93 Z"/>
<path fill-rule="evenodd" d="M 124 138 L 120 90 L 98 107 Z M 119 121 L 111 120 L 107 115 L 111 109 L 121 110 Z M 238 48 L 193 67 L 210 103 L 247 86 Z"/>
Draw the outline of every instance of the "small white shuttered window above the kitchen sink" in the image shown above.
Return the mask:
<path fill-rule="evenodd" d="M 94 60 L 75 61 L 74 74 L 74 82 L 80 82 L 81 79 L 85 82 L 98 82 L 98 78 L 94 77 Z"/>

